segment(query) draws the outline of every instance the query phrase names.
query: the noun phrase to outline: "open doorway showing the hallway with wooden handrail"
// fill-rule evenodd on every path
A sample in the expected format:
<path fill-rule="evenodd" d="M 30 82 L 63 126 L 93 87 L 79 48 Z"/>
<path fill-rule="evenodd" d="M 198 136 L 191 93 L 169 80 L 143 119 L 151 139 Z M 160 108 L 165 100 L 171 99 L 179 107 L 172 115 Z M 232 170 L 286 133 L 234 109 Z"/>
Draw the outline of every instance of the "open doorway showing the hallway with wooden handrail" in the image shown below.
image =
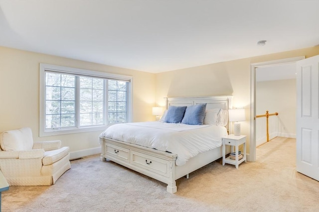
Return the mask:
<path fill-rule="evenodd" d="M 256 68 L 256 162 L 284 146 L 296 147 L 296 71 L 294 63 Z M 266 111 L 269 118 L 261 117 Z"/>

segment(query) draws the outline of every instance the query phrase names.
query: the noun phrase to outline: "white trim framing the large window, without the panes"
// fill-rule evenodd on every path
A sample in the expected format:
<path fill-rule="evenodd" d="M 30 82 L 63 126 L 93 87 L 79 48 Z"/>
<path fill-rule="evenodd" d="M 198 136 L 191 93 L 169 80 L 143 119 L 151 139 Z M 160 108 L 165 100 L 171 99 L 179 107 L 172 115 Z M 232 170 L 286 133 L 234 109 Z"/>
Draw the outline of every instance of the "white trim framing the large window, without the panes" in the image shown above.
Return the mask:
<path fill-rule="evenodd" d="M 116 80 L 125 80 L 130 81 L 130 86 L 128 87 L 128 122 L 132 121 L 132 112 L 133 112 L 133 77 L 114 74 L 114 73 L 106 73 L 100 71 L 90 71 L 84 69 L 77 69 L 77 68 L 69 68 L 69 67 L 62 67 L 62 66 L 55 66 L 50 64 L 40 64 L 40 107 L 39 107 L 39 136 L 54 136 L 54 135 L 63 135 L 63 134 L 71 134 L 71 133 L 83 133 L 83 132 L 91 132 L 91 131 L 103 131 L 110 125 L 103 125 L 103 126 L 89 126 L 89 127 L 81 127 L 77 129 L 65 129 L 65 130 L 58 130 L 58 131 L 51 131 L 45 130 L 45 71 L 59 71 L 64 73 L 72 73 L 72 74 L 80 74 L 80 75 L 87 75 L 87 76 L 96 76 L 96 77 L 103 77 L 103 78 L 110 78 Z"/>

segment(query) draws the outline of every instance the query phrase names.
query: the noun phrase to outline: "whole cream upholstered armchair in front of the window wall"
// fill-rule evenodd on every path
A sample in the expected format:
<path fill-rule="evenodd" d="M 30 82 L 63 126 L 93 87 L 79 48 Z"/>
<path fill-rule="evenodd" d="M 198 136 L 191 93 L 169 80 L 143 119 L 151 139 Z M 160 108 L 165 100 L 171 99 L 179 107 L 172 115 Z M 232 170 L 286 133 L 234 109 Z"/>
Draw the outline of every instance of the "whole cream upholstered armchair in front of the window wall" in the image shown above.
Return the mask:
<path fill-rule="evenodd" d="M 33 142 L 30 128 L 0 134 L 0 170 L 10 186 L 52 185 L 71 168 L 61 141 Z"/>

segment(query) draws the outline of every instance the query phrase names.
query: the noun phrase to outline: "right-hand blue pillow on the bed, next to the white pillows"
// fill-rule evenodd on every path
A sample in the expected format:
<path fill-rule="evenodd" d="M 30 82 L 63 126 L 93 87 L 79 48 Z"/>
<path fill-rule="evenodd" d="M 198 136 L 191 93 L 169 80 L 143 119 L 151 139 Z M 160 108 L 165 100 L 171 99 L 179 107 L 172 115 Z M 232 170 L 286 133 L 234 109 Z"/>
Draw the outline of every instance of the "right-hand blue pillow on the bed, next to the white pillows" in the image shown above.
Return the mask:
<path fill-rule="evenodd" d="M 187 106 L 181 123 L 186 125 L 203 125 L 206 104 Z"/>

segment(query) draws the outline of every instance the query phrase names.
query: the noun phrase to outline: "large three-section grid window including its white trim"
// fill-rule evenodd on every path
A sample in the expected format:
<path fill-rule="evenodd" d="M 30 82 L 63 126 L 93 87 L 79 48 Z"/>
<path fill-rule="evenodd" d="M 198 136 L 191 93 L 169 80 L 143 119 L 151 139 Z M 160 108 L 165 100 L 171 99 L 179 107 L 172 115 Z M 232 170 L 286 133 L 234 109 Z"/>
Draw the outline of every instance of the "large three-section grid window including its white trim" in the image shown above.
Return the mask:
<path fill-rule="evenodd" d="M 131 121 L 132 77 L 40 64 L 40 136 Z"/>

